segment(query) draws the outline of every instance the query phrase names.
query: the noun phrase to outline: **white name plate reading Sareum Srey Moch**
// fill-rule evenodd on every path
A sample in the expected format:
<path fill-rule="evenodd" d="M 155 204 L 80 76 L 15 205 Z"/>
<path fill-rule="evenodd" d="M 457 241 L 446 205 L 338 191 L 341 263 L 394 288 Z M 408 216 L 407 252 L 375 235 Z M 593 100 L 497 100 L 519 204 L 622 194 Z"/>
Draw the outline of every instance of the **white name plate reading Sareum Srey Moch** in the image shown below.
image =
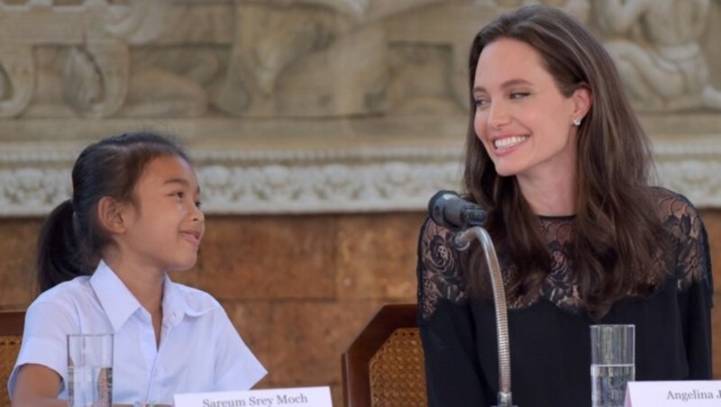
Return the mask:
<path fill-rule="evenodd" d="M 333 407 L 327 386 L 181 393 L 175 395 L 174 402 L 176 407 Z"/>

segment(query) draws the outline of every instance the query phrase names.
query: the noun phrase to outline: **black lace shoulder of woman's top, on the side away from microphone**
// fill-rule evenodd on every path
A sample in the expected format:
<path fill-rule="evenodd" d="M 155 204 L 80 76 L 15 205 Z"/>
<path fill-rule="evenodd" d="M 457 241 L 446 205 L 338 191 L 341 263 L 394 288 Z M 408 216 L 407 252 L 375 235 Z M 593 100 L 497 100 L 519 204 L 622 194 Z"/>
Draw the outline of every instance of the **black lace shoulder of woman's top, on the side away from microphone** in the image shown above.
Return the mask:
<path fill-rule="evenodd" d="M 700 215 L 689 200 L 680 194 L 659 189 L 659 208 L 663 226 L 674 241 L 675 269 L 680 290 L 690 285 L 702 285 L 709 293 L 713 290 L 711 261 L 706 229 Z"/>

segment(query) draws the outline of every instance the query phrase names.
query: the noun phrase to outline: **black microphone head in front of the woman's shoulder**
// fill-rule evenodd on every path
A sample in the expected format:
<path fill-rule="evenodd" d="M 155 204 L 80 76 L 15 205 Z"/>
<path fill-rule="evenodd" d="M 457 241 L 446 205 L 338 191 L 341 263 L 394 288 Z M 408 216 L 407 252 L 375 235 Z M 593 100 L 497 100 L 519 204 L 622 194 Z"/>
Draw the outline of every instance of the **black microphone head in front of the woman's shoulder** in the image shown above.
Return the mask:
<path fill-rule="evenodd" d="M 438 191 L 428 201 L 428 213 L 434 222 L 448 229 L 466 229 L 482 226 L 488 213 L 478 204 L 470 203 L 453 191 Z"/>

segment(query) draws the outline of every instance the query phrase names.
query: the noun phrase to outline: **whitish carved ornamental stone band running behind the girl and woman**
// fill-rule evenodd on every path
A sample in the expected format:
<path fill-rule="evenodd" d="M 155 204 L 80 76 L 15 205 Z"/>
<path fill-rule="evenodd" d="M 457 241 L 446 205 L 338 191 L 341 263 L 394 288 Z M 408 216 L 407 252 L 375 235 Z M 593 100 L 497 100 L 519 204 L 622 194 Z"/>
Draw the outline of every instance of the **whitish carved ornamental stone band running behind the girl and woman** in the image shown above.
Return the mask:
<path fill-rule="evenodd" d="M 333 213 L 424 210 L 439 189 L 460 187 L 451 148 L 339 149 L 233 154 L 193 149 L 205 213 Z M 16 160 L 0 154 L 0 216 L 42 215 L 67 199 L 74 154 Z M 698 207 L 721 206 L 721 145 L 658 149 L 660 185 Z"/>

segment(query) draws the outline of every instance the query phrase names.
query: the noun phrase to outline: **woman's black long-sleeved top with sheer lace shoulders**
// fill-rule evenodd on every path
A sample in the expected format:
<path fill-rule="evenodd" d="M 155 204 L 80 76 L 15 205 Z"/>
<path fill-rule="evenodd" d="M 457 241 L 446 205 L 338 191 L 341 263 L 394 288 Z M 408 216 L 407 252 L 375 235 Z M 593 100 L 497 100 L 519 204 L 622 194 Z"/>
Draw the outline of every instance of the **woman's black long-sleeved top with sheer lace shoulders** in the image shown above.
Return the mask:
<path fill-rule="evenodd" d="M 672 240 L 658 267 L 666 281 L 647 297 L 629 295 L 598 323 L 636 326 L 636 380 L 710 379 L 712 298 L 706 231 L 689 201 L 658 188 Z M 580 312 L 570 263 L 573 217 L 540 218 L 552 269 L 539 293 L 508 303 L 511 390 L 521 407 L 590 405 L 593 322 Z M 426 221 L 418 247 L 418 318 L 430 406 L 495 405 L 498 391 L 493 305 L 472 298 L 451 231 Z M 661 237 L 660 237 L 661 239 Z M 504 258 L 505 253 L 498 253 Z M 512 272 L 501 261 L 504 275 Z"/>

